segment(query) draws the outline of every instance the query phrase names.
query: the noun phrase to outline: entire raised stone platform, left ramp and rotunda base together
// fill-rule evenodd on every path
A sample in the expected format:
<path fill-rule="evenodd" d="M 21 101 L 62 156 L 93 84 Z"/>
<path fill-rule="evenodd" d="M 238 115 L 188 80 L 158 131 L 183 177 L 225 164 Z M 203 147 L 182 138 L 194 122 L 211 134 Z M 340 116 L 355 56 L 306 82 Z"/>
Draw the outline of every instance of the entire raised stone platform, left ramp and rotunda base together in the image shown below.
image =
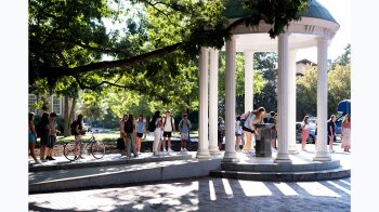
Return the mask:
<path fill-rule="evenodd" d="M 222 157 L 197 160 L 196 151 L 174 153 L 155 157 L 142 154 L 138 158 L 106 155 L 96 160 L 67 161 L 56 157 L 55 161 L 29 165 L 29 194 L 118 185 L 165 182 L 178 178 L 213 176 L 271 182 L 323 181 L 350 176 L 350 153 L 337 150 L 327 162 L 313 161 L 315 151 L 290 155 L 291 164 L 274 163 L 271 158 L 256 158 L 237 153 L 239 162 L 224 163 Z M 223 153 L 223 151 L 222 151 Z"/>

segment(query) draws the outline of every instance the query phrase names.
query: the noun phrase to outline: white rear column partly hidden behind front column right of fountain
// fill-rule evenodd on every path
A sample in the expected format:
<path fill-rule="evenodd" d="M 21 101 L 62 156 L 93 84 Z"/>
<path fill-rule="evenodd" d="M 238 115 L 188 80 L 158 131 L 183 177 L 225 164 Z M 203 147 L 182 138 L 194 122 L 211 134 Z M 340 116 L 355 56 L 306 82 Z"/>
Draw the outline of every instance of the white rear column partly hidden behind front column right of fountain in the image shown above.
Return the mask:
<path fill-rule="evenodd" d="M 297 50 L 289 51 L 288 58 L 288 75 L 289 75 L 289 119 L 287 121 L 288 124 L 288 153 L 289 154 L 299 154 L 299 150 L 296 146 L 296 53 Z"/>

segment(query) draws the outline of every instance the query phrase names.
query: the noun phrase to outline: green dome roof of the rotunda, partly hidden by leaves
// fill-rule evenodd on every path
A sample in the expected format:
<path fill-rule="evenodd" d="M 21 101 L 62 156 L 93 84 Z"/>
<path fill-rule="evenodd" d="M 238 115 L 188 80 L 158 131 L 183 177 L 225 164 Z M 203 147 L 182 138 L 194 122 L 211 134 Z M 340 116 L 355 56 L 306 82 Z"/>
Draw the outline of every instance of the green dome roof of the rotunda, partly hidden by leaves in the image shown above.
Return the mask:
<path fill-rule="evenodd" d="M 225 3 L 225 11 L 223 12 L 223 15 L 228 18 L 238 18 L 257 13 L 257 11 L 254 10 L 244 9 L 241 4 L 243 1 L 244 0 L 227 0 Z M 337 21 L 331 16 L 329 11 L 326 10 L 326 8 L 318 3 L 316 0 L 310 0 L 310 6 L 308 8 L 306 13 L 301 14 L 300 16 L 315 17 L 337 23 Z"/>

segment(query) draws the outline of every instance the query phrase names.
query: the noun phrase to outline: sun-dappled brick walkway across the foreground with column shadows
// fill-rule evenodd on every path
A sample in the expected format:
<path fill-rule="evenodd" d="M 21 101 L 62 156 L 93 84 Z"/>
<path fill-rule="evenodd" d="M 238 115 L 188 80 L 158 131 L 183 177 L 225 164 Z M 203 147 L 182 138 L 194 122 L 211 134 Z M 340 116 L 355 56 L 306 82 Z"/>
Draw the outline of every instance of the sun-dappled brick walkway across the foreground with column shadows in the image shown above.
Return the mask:
<path fill-rule="evenodd" d="M 273 183 L 205 177 L 29 195 L 29 211 L 350 211 L 350 178 Z"/>

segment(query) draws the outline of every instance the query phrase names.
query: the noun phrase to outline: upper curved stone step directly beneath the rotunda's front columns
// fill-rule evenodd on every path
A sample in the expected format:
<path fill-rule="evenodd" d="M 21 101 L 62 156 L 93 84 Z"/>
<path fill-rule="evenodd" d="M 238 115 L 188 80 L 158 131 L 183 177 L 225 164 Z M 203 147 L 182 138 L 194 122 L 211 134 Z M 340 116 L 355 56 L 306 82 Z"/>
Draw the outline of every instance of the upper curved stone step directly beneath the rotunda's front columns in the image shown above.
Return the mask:
<path fill-rule="evenodd" d="M 331 161 L 311 161 L 308 163 L 230 163 L 222 162 L 223 171 L 240 171 L 240 172 L 304 172 L 321 171 L 336 169 L 340 167 L 340 160 Z"/>

